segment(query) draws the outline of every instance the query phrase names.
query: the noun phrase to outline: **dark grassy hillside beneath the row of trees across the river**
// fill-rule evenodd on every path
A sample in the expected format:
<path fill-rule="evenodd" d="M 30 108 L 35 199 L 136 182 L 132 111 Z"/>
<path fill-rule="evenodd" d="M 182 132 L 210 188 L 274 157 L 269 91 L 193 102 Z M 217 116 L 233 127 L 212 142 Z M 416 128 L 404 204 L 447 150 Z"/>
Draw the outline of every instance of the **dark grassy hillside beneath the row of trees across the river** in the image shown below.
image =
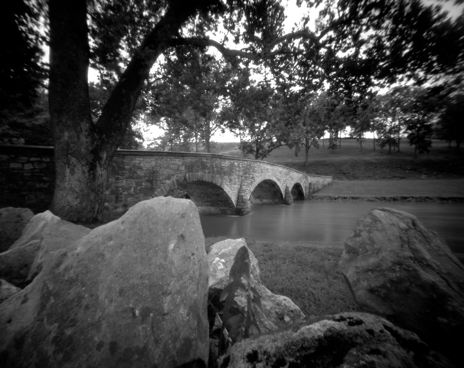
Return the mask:
<path fill-rule="evenodd" d="M 432 141 L 429 153 L 414 157 L 414 148 L 402 142 L 400 152 L 388 153 L 388 148 L 373 150 L 372 139 L 363 141 L 362 151 L 356 139 L 342 139 L 336 150 L 325 148 L 309 150 L 309 165 L 304 167 L 304 152 L 281 147 L 271 152 L 265 161 L 279 163 L 308 174 L 330 175 L 335 180 L 385 180 L 385 179 L 457 179 L 464 178 L 464 155 L 456 155 L 448 143 Z M 212 153 L 242 156 L 238 143 L 214 143 Z"/>

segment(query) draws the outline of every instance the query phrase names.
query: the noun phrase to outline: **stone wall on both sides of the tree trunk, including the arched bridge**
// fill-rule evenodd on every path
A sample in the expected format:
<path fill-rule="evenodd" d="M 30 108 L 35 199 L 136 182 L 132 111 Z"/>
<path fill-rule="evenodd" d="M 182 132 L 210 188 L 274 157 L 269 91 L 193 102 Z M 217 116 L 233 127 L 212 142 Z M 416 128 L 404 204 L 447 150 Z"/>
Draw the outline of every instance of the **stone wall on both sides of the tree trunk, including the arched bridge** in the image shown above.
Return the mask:
<path fill-rule="evenodd" d="M 48 208 L 54 187 L 52 147 L 0 146 L 0 165 L 1 207 Z M 250 199 L 282 203 L 285 193 L 308 198 L 331 180 L 233 156 L 118 150 L 108 171 L 105 218 L 117 218 L 135 203 L 176 188 L 187 191 L 200 211 L 245 214 Z"/>

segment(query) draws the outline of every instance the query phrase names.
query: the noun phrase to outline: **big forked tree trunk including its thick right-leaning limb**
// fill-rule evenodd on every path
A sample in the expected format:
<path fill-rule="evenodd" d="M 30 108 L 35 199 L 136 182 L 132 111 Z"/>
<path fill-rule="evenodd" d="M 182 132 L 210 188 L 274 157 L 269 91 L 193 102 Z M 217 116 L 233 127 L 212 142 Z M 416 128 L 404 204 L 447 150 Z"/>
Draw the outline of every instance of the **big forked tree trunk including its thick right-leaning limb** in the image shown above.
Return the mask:
<path fill-rule="evenodd" d="M 129 126 L 149 70 L 180 26 L 209 0 L 173 1 L 116 84 L 96 124 L 90 117 L 85 0 L 50 0 L 50 120 L 56 187 L 51 210 L 72 222 L 102 217 L 108 165 Z"/>

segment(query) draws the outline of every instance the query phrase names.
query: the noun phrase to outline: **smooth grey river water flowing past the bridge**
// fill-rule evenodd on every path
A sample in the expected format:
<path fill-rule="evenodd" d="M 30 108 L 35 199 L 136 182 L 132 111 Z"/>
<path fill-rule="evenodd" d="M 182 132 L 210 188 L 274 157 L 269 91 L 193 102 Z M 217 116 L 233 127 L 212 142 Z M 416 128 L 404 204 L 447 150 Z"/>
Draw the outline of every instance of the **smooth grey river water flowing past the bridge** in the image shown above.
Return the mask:
<path fill-rule="evenodd" d="M 303 241 L 342 247 L 358 219 L 376 207 L 412 213 L 456 253 L 464 253 L 464 203 L 295 201 L 291 206 L 253 204 L 246 216 L 200 215 L 205 237 Z"/>

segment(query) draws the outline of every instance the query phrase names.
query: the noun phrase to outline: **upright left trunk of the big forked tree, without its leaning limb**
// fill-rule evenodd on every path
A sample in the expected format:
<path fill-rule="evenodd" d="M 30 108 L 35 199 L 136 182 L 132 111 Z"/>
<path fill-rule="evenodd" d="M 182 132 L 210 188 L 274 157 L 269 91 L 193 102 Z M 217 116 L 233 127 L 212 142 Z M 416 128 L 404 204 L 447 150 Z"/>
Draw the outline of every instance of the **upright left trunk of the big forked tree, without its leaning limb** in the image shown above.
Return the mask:
<path fill-rule="evenodd" d="M 51 0 L 50 120 L 55 141 L 55 193 L 50 209 L 68 221 L 102 214 L 108 157 L 90 116 L 85 1 Z"/>

